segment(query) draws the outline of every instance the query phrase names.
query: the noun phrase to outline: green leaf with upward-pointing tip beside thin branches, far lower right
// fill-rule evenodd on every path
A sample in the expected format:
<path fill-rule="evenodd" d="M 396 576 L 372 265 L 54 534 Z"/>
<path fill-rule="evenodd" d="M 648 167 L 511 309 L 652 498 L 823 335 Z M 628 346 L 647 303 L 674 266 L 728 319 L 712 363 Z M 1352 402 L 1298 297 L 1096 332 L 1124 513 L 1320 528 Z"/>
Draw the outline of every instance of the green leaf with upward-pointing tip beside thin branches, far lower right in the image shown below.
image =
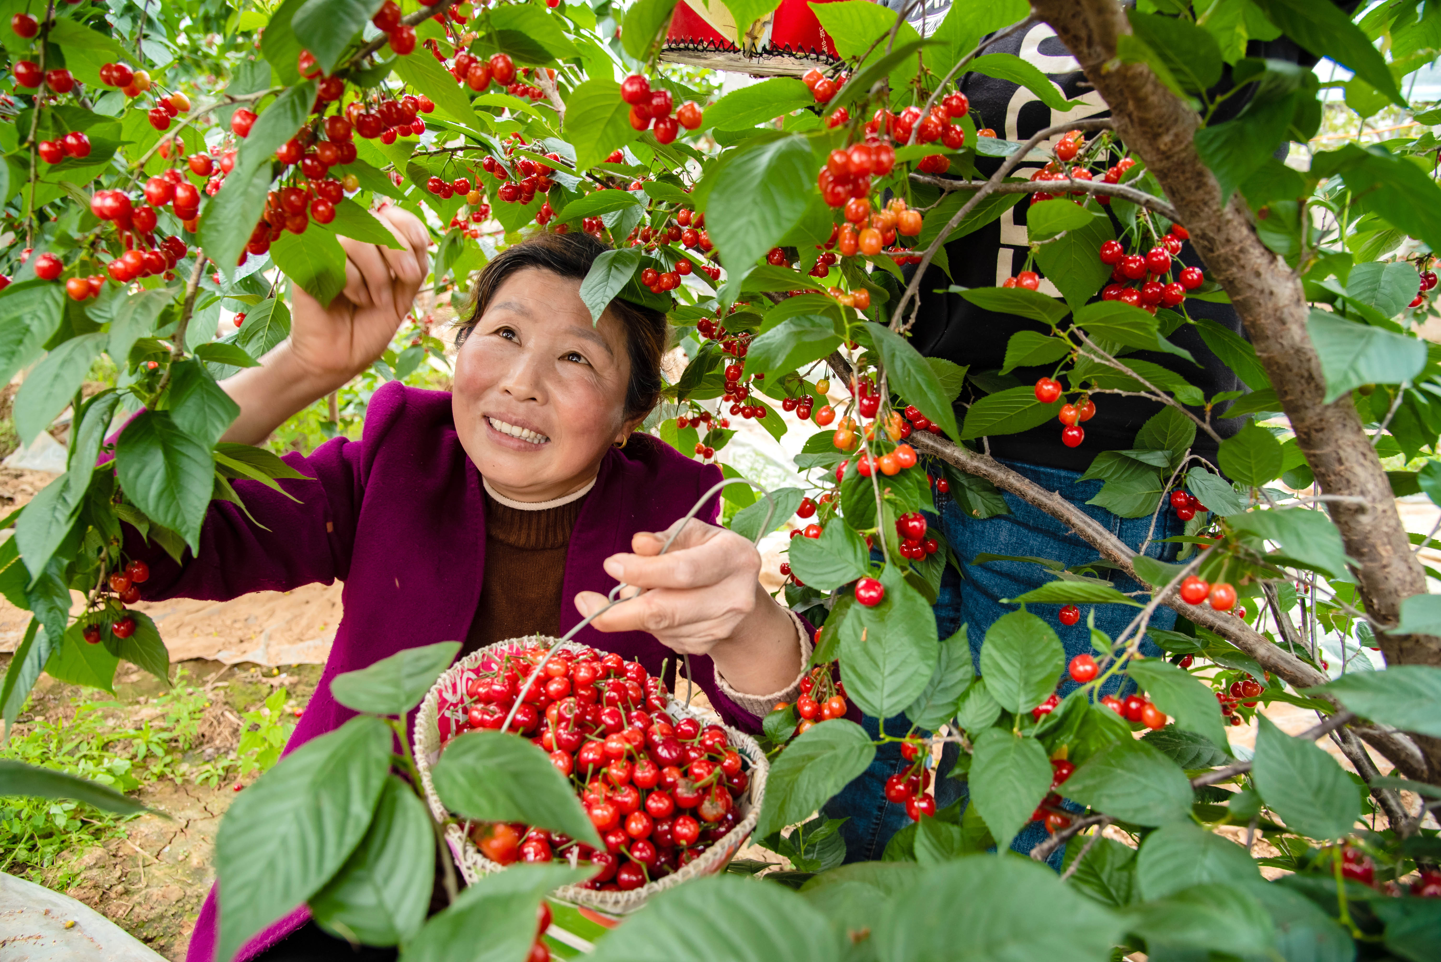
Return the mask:
<path fill-rule="evenodd" d="M 1330 755 L 1294 739 L 1257 716 L 1257 752 L 1251 776 L 1265 804 L 1291 831 L 1329 840 L 1350 834 L 1360 817 L 1356 783 Z"/>

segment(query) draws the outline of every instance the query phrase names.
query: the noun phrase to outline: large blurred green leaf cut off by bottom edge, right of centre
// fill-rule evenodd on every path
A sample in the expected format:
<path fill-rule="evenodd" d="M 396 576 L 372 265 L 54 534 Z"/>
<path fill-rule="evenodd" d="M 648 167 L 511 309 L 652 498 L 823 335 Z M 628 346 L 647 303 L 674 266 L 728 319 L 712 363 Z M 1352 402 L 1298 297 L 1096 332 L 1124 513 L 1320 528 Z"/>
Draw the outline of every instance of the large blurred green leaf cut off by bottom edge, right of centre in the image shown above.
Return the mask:
<path fill-rule="evenodd" d="M 1006 855 L 928 868 L 888 907 L 869 939 L 880 962 L 1108 962 L 1123 932 L 1046 866 Z"/>

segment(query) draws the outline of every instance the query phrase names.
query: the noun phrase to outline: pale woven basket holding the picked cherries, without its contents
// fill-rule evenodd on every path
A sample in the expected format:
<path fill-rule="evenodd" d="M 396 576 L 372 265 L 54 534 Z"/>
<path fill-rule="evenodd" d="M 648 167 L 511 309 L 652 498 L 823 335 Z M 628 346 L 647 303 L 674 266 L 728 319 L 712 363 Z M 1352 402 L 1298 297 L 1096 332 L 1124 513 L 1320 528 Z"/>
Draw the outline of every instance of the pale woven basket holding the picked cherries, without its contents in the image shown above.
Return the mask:
<path fill-rule="evenodd" d="M 549 647 L 552 644 L 555 644 L 555 638 L 530 635 L 529 638 L 512 638 L 509 641 L 500 641 L 494 645 L 481 648 L 480 651 L 471 652 L 451 665 L 425 696 L 425 701 L 421 703 L 421 710 L 415 719 L 415 762 L 421 772 L 421 783 L 425 788 L 425 801 L 429 802 L 431 811 L 438 819 L 447 821 L 451 815 L 445 811 L 445 805 L 435 794 L 435 782 L 431 778 L 431 766 L 440 759 L 441 745 L 450 733 L 457 729 L 464 730 L 464 727 L 467 727 L 463 720 L 464 709 L 460 707 L 465 698 L 465 685 L 471 678 L 480 674 L 480 671 L 494 670 L 500 657 L 506 654 L 520 651 L 532 645 Z M 562 651 L 578 651 L 581 648 L 584 648 L 584 645 L 571 642 L 563 642 L 561 645 Z M 702 711 L 690 709 L 674 698 L 669 700 L 666 711 L 677 719 L 696 719 L 702 724 L 719 723 L 719 719 L 715 716 L 708 716 Z M 736 812 L 741 815 L 741 821 L 736 822 L 736 827 L 713 842 L 710 848 L 708 848 L 690 864 L 680 867 L 677 871 L 666 876 L 664 878 L 641 886 L 640 889 L 631 889 L 630 891 L 597 891 L 592 889 L 565 886 L 563 889 L 558 889 L 553 893 L 553 897 L 611 916 L 623 916 L 640 909 L 646 904 L 646 900 L 657 891 L 674 889 L 690 878 L 699 878 L 700 876 L 710 876 L 722 871 L 731 858 L 735 857 L 735 853 L 739 851 L 741 845 L 744 845 L 751 837 L 751 831 L 755 828 L 755 819 L 761 812 L 761 802 L 765 799 L 765 776 L 769 770 L 769 765 L 765 760 L 765 752 L 761 750 L 761 746 L 757 745 L 755 739 L 745 732 L 738 732 L 729 726 L 723 727 L 731 740 L 731 746 L 751 763 L 751 769 L 748 772 L 751 783 L 736 799 Z M 451 854 L 455 857 L 455 866 L 460 868 L 460 873 L 464 876 L 467 884 L 476 881 L 486 873 L 500 871 L 504 868 L 500 863 L 491 861 L 480 853 L 476 842 L 470 840 L 470 821 L 448 821 L 445 825 L 445 841 L 450 844 Z M 576 860 L 574 851 L 571 858 L 574 864 Z"/>

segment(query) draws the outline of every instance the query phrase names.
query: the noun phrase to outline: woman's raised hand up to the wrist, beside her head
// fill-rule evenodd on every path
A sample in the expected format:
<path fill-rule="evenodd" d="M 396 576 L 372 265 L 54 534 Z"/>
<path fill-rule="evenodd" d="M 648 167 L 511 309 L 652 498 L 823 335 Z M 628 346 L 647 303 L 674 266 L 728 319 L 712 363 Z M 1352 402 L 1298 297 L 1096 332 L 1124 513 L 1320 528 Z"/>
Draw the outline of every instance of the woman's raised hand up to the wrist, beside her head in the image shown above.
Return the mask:
<path fill-rule="evenodd" d="M 290 353 L 320 393 L 369 367 L 389 346 L 425 281 L 429 233 L 408 210 L 385 206 L 376 219 L 402 249 L 340 238 L 346 251 L 346 287 L 324 307 L 294 288 Z"/>

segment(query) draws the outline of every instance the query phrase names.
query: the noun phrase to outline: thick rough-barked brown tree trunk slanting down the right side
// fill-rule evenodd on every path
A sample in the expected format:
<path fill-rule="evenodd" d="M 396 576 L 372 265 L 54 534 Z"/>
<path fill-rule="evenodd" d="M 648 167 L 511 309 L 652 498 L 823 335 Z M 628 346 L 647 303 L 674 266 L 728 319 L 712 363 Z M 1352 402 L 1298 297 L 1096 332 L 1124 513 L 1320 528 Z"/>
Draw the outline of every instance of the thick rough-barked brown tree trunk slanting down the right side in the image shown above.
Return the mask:
<path fill-rule="evenodd" d="M 1396 513 L 1391 484 L 1349 396 L 1323 403 L 1326 379 L 1311 346 L 1300 278 L 1257 236 L 1239 194 L 1222 203 L 1221 187 L 1196 153 L 1199 117 L 1141 63 L 1115 59 L 1115 39 L 1130 24 L 1115 0 L 1035 0 L 1111 107 L 1120 140 L 1140 154 L 1190 230 L 1212 279 L 1231 295 L 1257 356 L 1275 387 L 1301 452 L 1327 494 L 1362 498 L 1333 503 L 1331 520 L 1366 611 L 1396 624 L 1402 599 L 1425 592 L 1425 576 Z M 1441 665 L 1441 639 L 1380 635 L 1388 664 Z M 1417 737 L 1431 772 L 1441 776 L 1441 740 Z"/>

